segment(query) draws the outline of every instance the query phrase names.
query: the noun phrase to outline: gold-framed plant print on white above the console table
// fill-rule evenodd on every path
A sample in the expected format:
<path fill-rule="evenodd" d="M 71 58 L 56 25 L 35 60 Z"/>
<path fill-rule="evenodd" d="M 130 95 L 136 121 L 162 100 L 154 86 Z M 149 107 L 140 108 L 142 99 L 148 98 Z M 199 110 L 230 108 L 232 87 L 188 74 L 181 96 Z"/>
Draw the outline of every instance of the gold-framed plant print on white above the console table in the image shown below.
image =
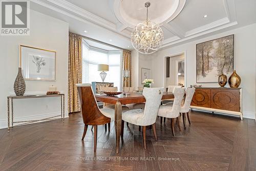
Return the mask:
<path fill-rule="evenodd" d="M 25 80 L 56 80 L 56 52 L 19 46 L 19 67 Z"/>

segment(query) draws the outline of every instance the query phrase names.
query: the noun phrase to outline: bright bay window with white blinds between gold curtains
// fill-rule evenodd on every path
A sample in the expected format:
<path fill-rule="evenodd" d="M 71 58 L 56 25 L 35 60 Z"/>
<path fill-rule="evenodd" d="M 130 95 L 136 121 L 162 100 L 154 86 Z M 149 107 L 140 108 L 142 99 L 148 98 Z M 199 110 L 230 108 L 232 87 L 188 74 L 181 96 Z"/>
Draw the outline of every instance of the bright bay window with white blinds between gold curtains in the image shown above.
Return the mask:
<path fill-rule="evenodd" d="M 105 51 L 91 48 L 82 41 L 82 82 L 102 82 L 98 64 L 109 65 L 104 82 L 114 82 L 114 87 L 120 90 L 121 86 L 121 51 Z"/>

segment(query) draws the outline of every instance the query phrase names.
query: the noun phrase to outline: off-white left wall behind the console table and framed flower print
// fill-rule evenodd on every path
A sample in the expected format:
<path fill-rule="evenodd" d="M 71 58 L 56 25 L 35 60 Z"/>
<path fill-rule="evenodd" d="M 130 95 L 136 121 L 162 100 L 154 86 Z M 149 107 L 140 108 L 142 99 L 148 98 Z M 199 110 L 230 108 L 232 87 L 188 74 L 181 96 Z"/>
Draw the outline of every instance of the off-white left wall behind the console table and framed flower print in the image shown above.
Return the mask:
<path fill-rule="evenodd" d="M 57 80 L 26 80 L 25 94 L 46 93 L 54 85 L 68 97 L 69 25 L 59 19 L 31 10 L 30 36 L 0 36 L 0 129 L 7 127 L 7 96 L 14 94 L 13 83 L 18 72 L 19 45 L 54 50 L 57 55 Z M 14 116 L 18 119 L 40 119 L 60 114 L 59 98 L 14 100 Z"/>

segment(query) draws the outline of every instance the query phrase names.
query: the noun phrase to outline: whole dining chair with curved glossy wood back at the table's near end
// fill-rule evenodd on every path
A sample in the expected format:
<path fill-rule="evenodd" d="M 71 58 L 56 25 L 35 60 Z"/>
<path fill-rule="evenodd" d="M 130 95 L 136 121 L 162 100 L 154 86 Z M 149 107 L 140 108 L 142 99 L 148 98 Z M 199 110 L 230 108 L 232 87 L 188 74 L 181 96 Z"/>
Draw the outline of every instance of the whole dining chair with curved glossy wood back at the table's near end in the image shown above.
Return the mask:
<path fill-rule="evenodd" d="M 112 118 L 108 116 L 115 115 L 115 110 L 112 110 L 109 108 L 99 109 L 90 83 L 79 83 L 79 84 L 76 84 L 76 87 L 78 90 L 82 119 L 84 123 L 82 141 L 86 136 L 88 125 L 93 125 L 94 126 L 94 152 L 96 152 L 97 126 L 110 123 Z"/>

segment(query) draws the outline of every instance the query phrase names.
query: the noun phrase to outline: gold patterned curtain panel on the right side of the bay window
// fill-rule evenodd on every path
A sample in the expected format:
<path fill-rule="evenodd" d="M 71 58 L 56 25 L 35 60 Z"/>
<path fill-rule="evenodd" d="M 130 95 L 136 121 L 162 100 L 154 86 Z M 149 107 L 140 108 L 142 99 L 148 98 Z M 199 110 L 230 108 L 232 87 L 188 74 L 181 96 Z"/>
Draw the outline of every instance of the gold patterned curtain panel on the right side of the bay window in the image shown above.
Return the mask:
<path fill-rule="evenodd" d="M 123 76 L 123 87 L 132 86 L 132 51 L 123 50 L 123 70 L 130 71 L 130 77 L 124 78 Z"/>

